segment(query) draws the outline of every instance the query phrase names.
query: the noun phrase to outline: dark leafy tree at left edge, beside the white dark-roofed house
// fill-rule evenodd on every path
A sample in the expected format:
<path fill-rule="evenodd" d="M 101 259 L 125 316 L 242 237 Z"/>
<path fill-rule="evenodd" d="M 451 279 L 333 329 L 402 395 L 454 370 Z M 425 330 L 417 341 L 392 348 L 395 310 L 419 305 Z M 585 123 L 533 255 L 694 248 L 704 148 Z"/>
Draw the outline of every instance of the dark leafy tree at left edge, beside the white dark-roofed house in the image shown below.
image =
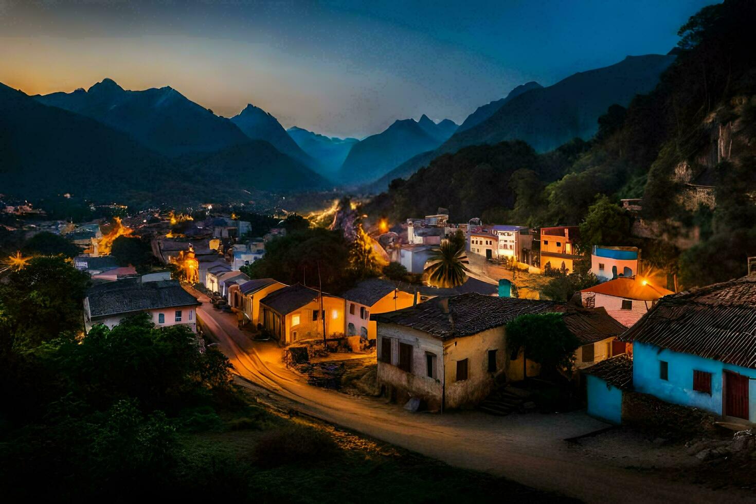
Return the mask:
<path fill-rule="evenodd" d="M 82 299 L 89 277 L 62 256 L 39 256 L 0 283 L 0 332 L 5 348 L 34 348 L 83 329 Z"/>

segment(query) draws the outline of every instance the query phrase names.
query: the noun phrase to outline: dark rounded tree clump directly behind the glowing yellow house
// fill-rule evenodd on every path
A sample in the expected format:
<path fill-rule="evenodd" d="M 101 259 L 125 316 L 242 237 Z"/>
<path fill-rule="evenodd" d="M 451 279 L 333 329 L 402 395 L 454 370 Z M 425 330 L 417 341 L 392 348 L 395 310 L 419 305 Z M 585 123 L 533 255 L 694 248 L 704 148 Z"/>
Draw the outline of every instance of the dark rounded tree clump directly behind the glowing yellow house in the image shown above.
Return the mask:
<path fill-rule="evenodd" d="M 318 266 L 324 291 L 338 292 L 350 285 L 349 243 L 342 232 L 308 228 L 287 233 L 266 243 L 265 257 L 243 271 L 250 278 L 317 286 Z"/>

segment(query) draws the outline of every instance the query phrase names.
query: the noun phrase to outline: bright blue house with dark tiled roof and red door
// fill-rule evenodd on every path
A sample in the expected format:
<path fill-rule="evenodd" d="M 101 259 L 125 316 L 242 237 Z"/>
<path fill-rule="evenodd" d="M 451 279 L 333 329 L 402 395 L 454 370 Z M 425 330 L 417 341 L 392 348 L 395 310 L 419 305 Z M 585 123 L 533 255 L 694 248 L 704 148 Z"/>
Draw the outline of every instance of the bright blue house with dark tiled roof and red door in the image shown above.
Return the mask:
<path fill-rule="evenodd" d="M 621 339 L 635 391 L 756 422 L 756 277 L 665 296 Z"/>

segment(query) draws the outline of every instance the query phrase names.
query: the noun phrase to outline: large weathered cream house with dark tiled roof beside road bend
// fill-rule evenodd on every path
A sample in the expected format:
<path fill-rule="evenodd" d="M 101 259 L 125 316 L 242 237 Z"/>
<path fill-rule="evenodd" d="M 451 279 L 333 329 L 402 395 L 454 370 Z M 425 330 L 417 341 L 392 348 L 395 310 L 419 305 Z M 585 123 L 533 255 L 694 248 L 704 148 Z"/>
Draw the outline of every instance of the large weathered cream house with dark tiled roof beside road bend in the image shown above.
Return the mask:
<path fill-rule="evenodd" d="M 477 404 L 502 375 L 522 379 L 522 352 L 511 360 L 505 325 L 559 306 L 467 293 L 373 314 L 378 382 L 389 397 L 418 397 L 431 410 Z M 528 361 L 528 369 L 534 366 Z"/>

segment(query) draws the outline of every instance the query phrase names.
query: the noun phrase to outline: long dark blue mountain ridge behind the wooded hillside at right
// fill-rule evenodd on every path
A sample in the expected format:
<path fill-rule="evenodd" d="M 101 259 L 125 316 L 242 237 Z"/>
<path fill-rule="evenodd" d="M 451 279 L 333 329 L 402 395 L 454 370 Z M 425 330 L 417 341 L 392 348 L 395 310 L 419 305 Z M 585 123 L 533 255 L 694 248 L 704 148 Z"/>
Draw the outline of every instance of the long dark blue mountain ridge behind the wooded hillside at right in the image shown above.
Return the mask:
<path fill-rule="evenodd" d="M 398 165 L 371 188 L 384 190 L 395 178 L 407 178 L 432 159 L 468 145 L 522 140 L 537 152 L 547 152 L 572 138 L 588 140 L 596 134 L 598 118 L 610 105 L 626 107 L 636 94 L 651 91 L 674 58 L 674 54 L 628 56 L 611 66 L 575 73 L 546 88 L 530 85 L 514 97 L 499 100 L 498 108 L 495 101 L 480 107 L 472 113 L 476 117 L 463 122 L 466 128 L 458 128 L 435 150 Z"/>

